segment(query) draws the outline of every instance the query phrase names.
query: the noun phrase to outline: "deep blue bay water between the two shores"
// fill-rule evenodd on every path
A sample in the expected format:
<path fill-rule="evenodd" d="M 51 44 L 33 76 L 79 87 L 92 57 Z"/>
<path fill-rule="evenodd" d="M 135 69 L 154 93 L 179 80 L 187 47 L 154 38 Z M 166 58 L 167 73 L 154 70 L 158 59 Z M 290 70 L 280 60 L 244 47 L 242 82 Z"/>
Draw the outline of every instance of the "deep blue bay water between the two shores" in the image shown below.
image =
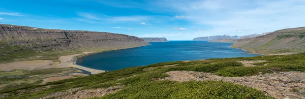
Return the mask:
<path fill-rule="evenodd" d="M 248 52 L 230 48 L 233 43 L 170 41 L 150 44 L 138 48 L 88 55 L 77 59 L 77 64 L 97 70 L 113 71 L 166 61 L 258 56 L 256 54 L 242 54 Z"/>

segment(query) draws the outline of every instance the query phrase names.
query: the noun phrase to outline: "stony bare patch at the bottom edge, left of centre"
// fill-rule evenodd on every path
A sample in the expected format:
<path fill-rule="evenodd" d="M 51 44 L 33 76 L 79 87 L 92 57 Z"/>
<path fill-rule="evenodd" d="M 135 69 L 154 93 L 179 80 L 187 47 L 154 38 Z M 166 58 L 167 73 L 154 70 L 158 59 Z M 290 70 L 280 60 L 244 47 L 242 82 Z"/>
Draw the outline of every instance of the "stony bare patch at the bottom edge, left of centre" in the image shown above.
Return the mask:
<path fill-rule="evenodd" d="M 86 89 L 86 90 L 80 90 L 78 89 L 72 89 L 72 90 L 66 90 L 65 92 L 57 92 L 50 94 L 43 98 L 50 98 L 50 97 L 58 97 L 62 99 L 70 99 L 70 98 L 90 98 L 90 97 L 101 97 L 106 94 L 115 93 L 119 91 L 121 88 L 124 88 L 124 86 L 114 86 L 109 88 L 98 88 L 98 89 Z M 77 91 L 77 92 L 74 92 Z M 64 96 L 63 96 L 64 95 Z"/>

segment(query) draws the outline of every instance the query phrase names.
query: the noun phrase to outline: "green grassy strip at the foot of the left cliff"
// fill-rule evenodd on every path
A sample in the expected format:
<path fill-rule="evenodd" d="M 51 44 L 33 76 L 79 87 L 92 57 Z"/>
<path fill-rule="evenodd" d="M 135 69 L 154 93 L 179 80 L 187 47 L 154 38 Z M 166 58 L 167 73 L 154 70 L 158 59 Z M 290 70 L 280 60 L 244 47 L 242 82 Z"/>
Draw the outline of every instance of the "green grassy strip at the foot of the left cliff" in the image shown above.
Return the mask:
<path fill-rule="evenodd" d="M 8 45 L 7 43 L 1 41 L 0 44 L 5 46 L 4 49 L 0 49 L 0 64 L 10 63 L 13 61 L 26 61 L 26 60 L 58 61 L 58 57 L 64 55 L 80 54 L 82 52 L 92 52 L 92 51 L 102 52 L 102 51 L 119 49 L 119 48 L 112 48 L 112 49 L 105 49 L 105 48 L 81 49 L 80 48 L 69 51 L 63 51 L 63 50 L 36 51 L 32 49 L 27 49 L 26 47 L 22 47 L 22 46 Z"/>

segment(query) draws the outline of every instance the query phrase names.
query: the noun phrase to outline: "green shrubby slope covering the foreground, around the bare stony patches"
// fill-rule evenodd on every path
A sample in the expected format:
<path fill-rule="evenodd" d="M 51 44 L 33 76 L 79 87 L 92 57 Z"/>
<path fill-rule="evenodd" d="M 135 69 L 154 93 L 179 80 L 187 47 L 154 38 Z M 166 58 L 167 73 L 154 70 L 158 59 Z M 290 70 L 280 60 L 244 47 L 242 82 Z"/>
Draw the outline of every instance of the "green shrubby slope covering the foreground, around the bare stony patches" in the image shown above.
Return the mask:
<path fill-rule="evenodd" d="M 154 81 L 152 79 L 165 78 L 167 76 L 165 73 L 168 71 L 197 71 L 228 77 L 251 76 L 259 72 L 272 73 L 272 71 L 305 72 L 305 53 L 207 60 L 163 62 L 146 65 L 145 67 L 126 68 L 76 79 L 50 82 L 46 85 L 28 84 L 1 90 L 0 94 L 9 93 L 9 97 L 6 98 L 39 98 L 50 93 L 76 87 L 96 89 L 125 85 L 122 90 L 116 93 L 94 98 L 271 98 L 265 96 L 265 93 L 260 90 L 222 81 L 189 81 L 180 83 L 168 80 Z M 267 62 L 255 63 L 256 65 L 261 65 L 261 67 L 243 67 L 243 64 L 236 62 L 236 60 L 267 60 Z M 164 65 L 171 64 L 178 65 L 175 67 L 163 67 Z M 18 96 L 11 96 L 17 94 L 19 92 L 17 90 L 42 88 L 49 85 L 55 86 L 38 92 L 28 92 Z"/>

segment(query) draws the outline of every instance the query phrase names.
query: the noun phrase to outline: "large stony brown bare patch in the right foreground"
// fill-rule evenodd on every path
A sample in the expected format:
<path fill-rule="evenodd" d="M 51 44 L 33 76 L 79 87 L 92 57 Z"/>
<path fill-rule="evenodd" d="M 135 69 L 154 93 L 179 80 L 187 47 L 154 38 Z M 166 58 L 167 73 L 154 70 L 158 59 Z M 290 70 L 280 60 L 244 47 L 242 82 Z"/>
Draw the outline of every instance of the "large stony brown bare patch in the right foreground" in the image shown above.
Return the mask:
<path fill-rule="evenodd" d="M 235 84 L 246 85 L 266 92 L 276 98 L 305 98 L 305 73 L 304 72 L 281 72 L 263 74 L 251 77 L 222 77 L 211 73 L 171 71 L 166 74 L 167 80 L 174 81 L 226 81 Z"/>

